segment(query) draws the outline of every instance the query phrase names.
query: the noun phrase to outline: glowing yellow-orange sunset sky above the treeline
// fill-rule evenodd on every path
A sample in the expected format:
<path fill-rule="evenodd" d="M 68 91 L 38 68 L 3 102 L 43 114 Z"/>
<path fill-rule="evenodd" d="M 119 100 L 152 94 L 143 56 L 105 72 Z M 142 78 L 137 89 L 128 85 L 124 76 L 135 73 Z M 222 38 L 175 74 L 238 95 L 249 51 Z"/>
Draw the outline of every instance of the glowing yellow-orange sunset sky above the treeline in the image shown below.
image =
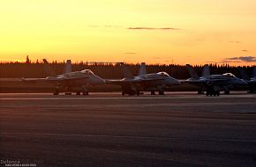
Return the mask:
<path fill-rule="evenodd" d="M 8 0 L 0 60 L 256 64 L 255 0 Z"/>

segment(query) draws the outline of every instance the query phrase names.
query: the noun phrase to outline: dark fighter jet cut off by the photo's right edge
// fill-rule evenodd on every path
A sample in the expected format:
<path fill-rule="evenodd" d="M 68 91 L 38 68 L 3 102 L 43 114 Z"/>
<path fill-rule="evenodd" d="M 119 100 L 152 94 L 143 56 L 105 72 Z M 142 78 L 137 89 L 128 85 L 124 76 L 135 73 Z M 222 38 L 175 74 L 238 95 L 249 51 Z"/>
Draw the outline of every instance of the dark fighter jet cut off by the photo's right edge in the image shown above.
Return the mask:
<path fill-rule="evenodd" d="M 256 92 L 256 67 L 252 70 L 252 77 L 250 78 L 246 72 L 245 69 L 238 68 L 240 71 L 240 75 L 242 76 L 242 79 L 245 80 L 245 82 L 249 86 L 248 93 L 255 93 Z"/>

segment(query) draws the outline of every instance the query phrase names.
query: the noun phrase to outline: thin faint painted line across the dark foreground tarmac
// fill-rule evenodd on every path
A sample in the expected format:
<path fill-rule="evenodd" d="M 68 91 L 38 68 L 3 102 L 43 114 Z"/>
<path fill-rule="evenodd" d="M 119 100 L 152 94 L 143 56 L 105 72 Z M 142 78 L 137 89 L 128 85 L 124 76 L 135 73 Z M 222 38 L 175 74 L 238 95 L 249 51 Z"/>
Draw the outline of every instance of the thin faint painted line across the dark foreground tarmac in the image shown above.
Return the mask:
<path fill-rule="evenodd" d="M 211 138 L 184 138 L 184 137 L 168 137 L 168 136 L 139 136 L 139 135 L 105 135 L 105 134 L 49 134 L 49 133 L 1 133 L 1 134 L 26 134 L 26 135 L 52 135 L 52 136 L 70 136 L 70 137 L 109 137 L 120 139 L 169 139 L 169 140 L 183 140 L 183 141 L 207 141 L 207 142 L 255 142 L 252 140 L 239 139 L 211 139 Z"/>

